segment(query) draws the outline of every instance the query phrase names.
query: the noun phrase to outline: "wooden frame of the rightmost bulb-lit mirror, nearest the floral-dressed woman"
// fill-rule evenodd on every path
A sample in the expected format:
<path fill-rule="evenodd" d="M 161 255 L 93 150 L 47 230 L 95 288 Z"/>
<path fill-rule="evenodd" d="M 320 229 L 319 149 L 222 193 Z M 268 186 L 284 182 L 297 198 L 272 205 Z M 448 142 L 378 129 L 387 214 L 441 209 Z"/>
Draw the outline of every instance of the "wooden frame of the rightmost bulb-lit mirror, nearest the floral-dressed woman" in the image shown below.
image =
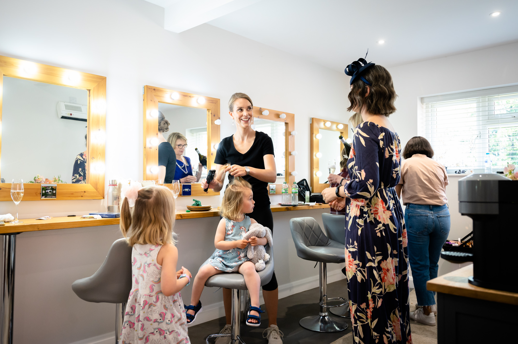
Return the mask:
<path fill-rule="evenodd" d="M 325 120 L 325 119 L 320 119 L 320 118 L 310 118 L 309 119 L 309 122 L 310 122 L 310 140 L 311 140 L 311 192 L 315 192 L 315 193 L 318 193 L 318 192 L 322 192 L 326 187 L 329 187 L 329 184 L 325 184 L 325 183 L 320 183 L 320 180 L 319 180 L 319 177 L 316 176 L 316 173 L 319 171 L 319 164 L 320 164 L 320 159 L 316 157 L 316 153 L 319 152 L 319 139 L 316 138 L 316 134 L 318 134 L 320 132 L 320 129 L 325 129 L 325 130 L 331 130 L 331 131 L 336 131 L 337 134 L 339 133 L 339 135 L 337 135 L 337 139 L 338 139 L 338 136 L 342 135 L 344 138 L 348 138 L 349 137 L 349 126 L 346 124 L 346 123 L 340 123 L 340 122 L 335 122 L 335 121 L 328 121 L 328 120 Z M 325 122 L 331 122 L 331 125 L 329 127 L 326 127 L 325 126 Z M 343 128 L 342 129 L 338 129 L 338 124 L 342 124 Z M 340 151 L 342 151 L 343 149 L 343 144 L 340 143 Z M 339 164 L 339 162 L 337 162 Z M 339 165 L 338 165 L 339 167 Z M 337 170 L 335 172 L 340 172 L 340 170 Z"/>

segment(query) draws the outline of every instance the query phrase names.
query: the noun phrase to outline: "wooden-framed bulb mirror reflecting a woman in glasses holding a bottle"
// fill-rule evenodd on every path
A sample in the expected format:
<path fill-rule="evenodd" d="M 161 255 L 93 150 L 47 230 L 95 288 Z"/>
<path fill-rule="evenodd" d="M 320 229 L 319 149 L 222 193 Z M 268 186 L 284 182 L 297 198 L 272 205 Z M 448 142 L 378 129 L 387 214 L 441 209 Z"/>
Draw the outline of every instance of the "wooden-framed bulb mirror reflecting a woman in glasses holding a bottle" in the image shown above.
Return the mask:
<path fill-rule="evenodd" d="M 145 86 L 144 179 L 180 180 L 191 184 L 191 196 L 219 195 L 200 184 L 220 141 L 219 107 L 217 98 Z"/>

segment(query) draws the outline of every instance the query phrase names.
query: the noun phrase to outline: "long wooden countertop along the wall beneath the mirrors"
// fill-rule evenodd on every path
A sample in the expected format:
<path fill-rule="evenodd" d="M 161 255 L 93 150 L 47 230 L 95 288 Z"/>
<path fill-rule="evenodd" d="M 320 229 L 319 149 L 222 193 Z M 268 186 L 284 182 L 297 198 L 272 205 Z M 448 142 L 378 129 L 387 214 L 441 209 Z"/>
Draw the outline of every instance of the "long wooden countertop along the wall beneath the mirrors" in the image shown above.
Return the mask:
<path fill-rule="evenodd" d="M 283 207 L 279 205 L 270 206 L 272 212 L 277 211 L 292 211 L 292 210 L 307 210 L 307 209 L 323 209 L 329 208 L 327 204 L 314 205 L 314 206 L 297 206 L 297 207 Z M 212 208 L 209 211 L 191 211 L 186 212 L 185 210 L 176 211 L 176 220 L 182 220 L 185 218 L 199 218 L 199 217 L 212 217 L 219 216 L 219 210 Z M 106 225 L 118 225 L 119 218 L 101 218 L 100 220 L 76 217 L 52 217 L 49 220 L 36 220 L 35 218 L 23 218 L 21 224 L 6 223 L 5 226 L 0 226 L 0 233 L 16 233 L 16 232 L 30 232 L 36 230 L 49 230 L 49 229 L 60 229 L 60 228 L 76 228 L 76 227 L 92 227 L 92 226 L 106 226 Z"/>

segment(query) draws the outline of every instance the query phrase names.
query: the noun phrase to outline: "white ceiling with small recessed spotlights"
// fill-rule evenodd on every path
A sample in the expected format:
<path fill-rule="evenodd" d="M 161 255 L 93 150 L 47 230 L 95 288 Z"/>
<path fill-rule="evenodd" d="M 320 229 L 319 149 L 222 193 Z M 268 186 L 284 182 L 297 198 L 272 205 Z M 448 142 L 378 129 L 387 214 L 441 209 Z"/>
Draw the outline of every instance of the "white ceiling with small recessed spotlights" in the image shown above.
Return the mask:
<path fill-rule="evenodd" d="M 393 67 L 515 42 L 516 18 L 516 0 L 262 0 L 208 24 L 343 71 L 367 49 Z"/>

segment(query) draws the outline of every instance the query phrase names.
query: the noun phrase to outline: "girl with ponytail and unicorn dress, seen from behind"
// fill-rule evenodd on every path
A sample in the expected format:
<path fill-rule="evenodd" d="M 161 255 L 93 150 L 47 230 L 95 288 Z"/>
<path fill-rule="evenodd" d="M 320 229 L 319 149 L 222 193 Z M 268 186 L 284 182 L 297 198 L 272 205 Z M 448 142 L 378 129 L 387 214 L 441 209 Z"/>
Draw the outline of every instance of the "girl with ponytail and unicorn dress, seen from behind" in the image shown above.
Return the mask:
<path fill-rule="evenodd" d="M 133 282 L 119 343 L 189 343 L 180 290 L 192 276 L 184 267 L 176 271 L 175 199 L 165 186 L 123 192 L 121 231 L 133 246 Z"/>

